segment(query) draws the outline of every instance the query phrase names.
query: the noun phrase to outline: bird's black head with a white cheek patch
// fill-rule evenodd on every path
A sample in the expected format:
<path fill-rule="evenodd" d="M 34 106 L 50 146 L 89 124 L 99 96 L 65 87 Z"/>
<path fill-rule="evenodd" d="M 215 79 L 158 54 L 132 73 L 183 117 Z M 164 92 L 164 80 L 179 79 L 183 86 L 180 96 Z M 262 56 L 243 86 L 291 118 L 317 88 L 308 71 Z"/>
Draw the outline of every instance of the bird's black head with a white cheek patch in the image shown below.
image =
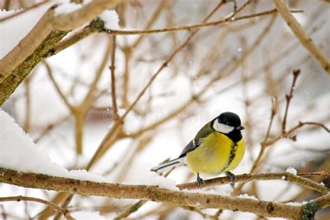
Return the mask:
<path fill-rule="evenodd" d="M 216 132 L 226 134 L 234 142 L 242 139 L 241 130 L 244 127 L 241 125 L 241 120 L 237 114 L 233 112 L 223 112 L 212 121 L 212 129 Z"/>

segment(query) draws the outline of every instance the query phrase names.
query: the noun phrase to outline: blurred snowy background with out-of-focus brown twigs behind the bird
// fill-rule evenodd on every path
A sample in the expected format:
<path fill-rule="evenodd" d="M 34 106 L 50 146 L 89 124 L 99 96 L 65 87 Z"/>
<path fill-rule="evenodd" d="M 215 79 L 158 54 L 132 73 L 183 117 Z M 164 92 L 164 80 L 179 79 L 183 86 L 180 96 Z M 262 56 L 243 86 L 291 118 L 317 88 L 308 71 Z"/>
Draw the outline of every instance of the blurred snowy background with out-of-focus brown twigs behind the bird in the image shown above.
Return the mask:
<path fill-rule="evenodd" d="M 288 2 L 290 8 L 304 11 L 294 13 L 294 16 L 329 57 L 330 4 L 309 0 Z M 15 10 L 33 3 L 4 0 L 0 7 Z M 246 1 L 237 0 L 236 3 L 239 8 Z M 136 0 L 120 4 L 116 12 L 120 29 L 156 29 L 199 24 L 217 4 L 219 1 L 213 0 Z M 272 1 L 251 1 L 236 17 L 273 8 Z M 225 19 L 233 10 L 233 2 L 225 3 L 210 21 Z M 175 31 L 116 36 L 114 82 L 119 116 L 131 106 L 150 77 L 190 33 Z M 47 151 L 54 162 L 66 168 L 86 167 L 116 120 L 109 69 L 112 52 L 113 36 L 95 33 L 40 63 L 3 105 L 35 143 Z M 260 143 L 267 134 L 272 109 L 276 114 L 268 139 L 282 135 L 285 94 L 290 93 L 294 69 L 300 69 L 301 74 L 288 109 L 287 130 L 299 125 L 300 121 L 329 127 L 330 77 L 300 45 L 281 16 L 272 13 L 199 29 L 128 113 L 123 127 L 113 135 L 113 141 L 91 171 L 113 182 L 148 184 L 155 176 L 149 172 L 152 166 L 178 157 L 205 123 L 223 111 L 233 111 L 246 127 L 243 132 L 246 154 L 233 173 L 249 173 L 260 153 Z M 97 77 L 100 79 L 95 80 Z M 96 88 L 93 88 L 93 82 Z M 91 102 L 86 102 L 86 97 L 91 97 Z M 322 127 L 306 125 L 267 147 L 253 172 L 283 172 L 289 166 L 298 172 L 329 172 L 329 155 L 329 133 Z M 175 168 L 168 178 L 179 184 L 194 181 L 196 177 L 182 166 Z M 312 179 L 329 187 L 329 178 Z M 214 187 L 213 190 L 232 191 L 230 186 Z M 22 194 L 49 201 L 56 196 L 52 191 L 7 184 L 0 184 L 0 191 L 1 196 Z M 281 202 L 309 201 L 318 196 L 309 189 L 282 180 L 250 182 L 241 192 L 260 200 Z M 100 212 L 107 219 L 113 219 L 135 202 L 74 196 L 69 210 Z M 29 219 L 45 208 L 36 203 L 12 204 L 0 204 L 2 217 Z M 318 212 L 317 217 L 327 219 L 329 211 Z M 217 216 L 217 212 L 219 210 L 189 210 L 147 202 L 127 218 L 258 218 L 254 214 L 228 210 Z"/>

